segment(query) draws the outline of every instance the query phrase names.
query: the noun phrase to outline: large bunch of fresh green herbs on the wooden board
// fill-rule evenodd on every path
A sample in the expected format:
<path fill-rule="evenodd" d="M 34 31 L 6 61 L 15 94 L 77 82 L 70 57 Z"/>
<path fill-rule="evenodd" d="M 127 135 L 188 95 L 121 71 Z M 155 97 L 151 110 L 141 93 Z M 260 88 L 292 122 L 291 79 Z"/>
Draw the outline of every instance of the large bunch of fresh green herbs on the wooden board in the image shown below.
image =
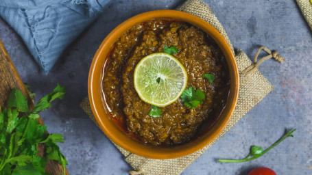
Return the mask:
<path fill-rule="evenodd" d="M 38 123 L 38 112 L 51 107 L 56 98 L 64 97 L 65 87 L 57 85 L 29 111 L 27 98 L 13 89 L 8 98 L 8 108 L 0 109 L 0 174 L 46 174 L 47 159 L 67 165 L 57 142 L 63 143 L 60 134 L 47 133 L 47 126 Z M 45 144 L 45 157 L 38 157 L 38 144 Z"/>

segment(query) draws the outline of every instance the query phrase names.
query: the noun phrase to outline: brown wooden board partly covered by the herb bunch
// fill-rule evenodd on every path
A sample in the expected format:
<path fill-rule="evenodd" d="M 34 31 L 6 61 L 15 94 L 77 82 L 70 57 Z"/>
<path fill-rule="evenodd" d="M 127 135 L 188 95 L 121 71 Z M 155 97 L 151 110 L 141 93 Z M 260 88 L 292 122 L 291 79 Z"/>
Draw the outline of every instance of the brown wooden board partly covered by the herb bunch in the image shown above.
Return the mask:
<path fill-rule="evenodd" d="M 19 73 L 16 71 L 14 64 L 10 56 L 8 55 L 5 47 L 3 46 L 2 41 L 0 40 L 0 106 L 3 107 L 5 105 L 5 101 L 8 99 L 9 94 L 12 88 L 16 87 L 16 89 L 21 90 L 25 96 L 28 98 L 28 105 L 30 108 L 34 107 L 32 100 L 30 100 L 27 91 L 24 87 L 23 81 L 21 77 L 19 77 Z M 38 122 L 43 124 L 43 121 L 39 118 Z M 39 155 L 44 156 L 45 154 L 45 145 L 39 144 Z M 45 170 L 49 174 L 63 174 L 62 166 L 58 164 L 58 161 L 47 160 L 47 165 Z M 66 170 L 67 172 L 67 170 Z M 69 174 L 67 172 L 67 174 Z"/>

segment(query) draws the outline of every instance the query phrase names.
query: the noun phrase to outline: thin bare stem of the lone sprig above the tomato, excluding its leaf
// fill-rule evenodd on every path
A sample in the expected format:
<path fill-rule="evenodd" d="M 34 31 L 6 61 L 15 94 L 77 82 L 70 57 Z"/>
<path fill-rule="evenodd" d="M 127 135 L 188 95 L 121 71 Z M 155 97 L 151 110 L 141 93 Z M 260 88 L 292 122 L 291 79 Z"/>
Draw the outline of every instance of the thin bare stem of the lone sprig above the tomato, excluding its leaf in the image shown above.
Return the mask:
<path fill-rule="evenodd" d="M 274 146 L 280 144 L 280 142 L 282 142 L 284 139 L 286 139 L 287 137 L 293 137 L 293 135 L 291 135 L 293 132 L 295 132 L 296 129 L 292 129 L 292 130 L 287 130 L 287 133 L 281 137 L 280 139 L 278 139 L 277 142 L 275 142 L 274 144 L 272 144 L 272 146 L 269 146 L 269 148 L 265 149 L 259 156 L 256 157 L 250 157 L 252 155 L 252 153 L 250 152 L 248 154 L 247 157 L 243 158 L 243 159 L 217 159 L 218 162 L 221 163 L 239 163 L 239 162 L 245 162 L 245 161 L 252 161 L 254 159 L 257 159 L 261 156 L 263 156 L 263 154 L 267 153 L 269 150 L 271 150 L 272 148 L 274 148 Z M 250 157 L 250 158 L 248 158 Z"/>

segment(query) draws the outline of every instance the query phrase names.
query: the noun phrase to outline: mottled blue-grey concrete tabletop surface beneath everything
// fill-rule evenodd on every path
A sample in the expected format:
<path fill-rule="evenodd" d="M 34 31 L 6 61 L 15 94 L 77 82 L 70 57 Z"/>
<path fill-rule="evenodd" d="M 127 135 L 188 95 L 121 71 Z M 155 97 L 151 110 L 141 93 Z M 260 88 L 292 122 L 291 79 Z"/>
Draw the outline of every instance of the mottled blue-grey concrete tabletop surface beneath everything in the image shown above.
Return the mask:
<path fill-rule="evenodd" d="M 260 45 L 276 49 L 285 64 L 269 60 L 259 70 L 274 85 L 267 95 L 217 144 L 182 174 L 247 174 L 254 167 L 270 167 L 277 174 L 312 174 L 312 32 L 294 0 L 208 1 L 235 49 L 253 57 Z M 88 68 L 101 40 L 119 23 L 135 14 L 173 9 L 182 1 L 112 1 L 91 27 L 77 38 L 49 75 L 42 75 L 21 38 L 0 19 L 0 38 L 25 83 L 37 100 L 56 83 L 67 86 L 67 96 L 41 116 L 51 133 L 62 133 L 60 144 L 71 174 L 128 174 L 122 154 L 80 109 L 87 95 Z M 267 148 L 286 128 L 297 128 L 293 138 L 263 157 L 247 163 L 221 164 L 218 158 L 242 158 L 251 145 Z"/>

